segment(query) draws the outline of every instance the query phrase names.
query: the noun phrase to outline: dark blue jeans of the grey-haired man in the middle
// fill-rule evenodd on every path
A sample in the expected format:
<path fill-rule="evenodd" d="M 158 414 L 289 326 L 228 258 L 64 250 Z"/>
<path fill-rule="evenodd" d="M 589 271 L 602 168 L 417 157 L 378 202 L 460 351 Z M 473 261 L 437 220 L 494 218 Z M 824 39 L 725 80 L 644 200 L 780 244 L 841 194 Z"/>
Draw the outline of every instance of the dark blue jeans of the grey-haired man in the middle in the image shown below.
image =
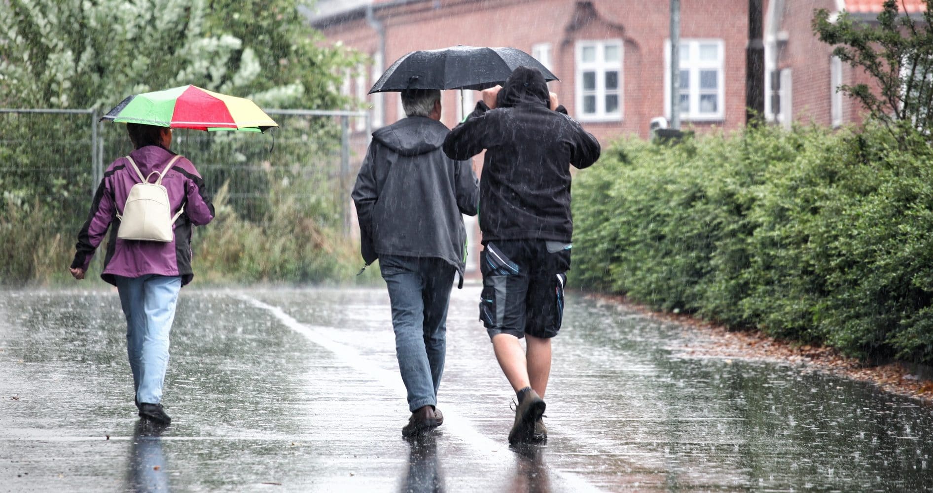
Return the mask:
<path fill-rule="evenodd" d="M 456 269 L 439 258 L 400 255 L 380 256 L 379 268 L 389 288 L 398 369 L 409 409 L 437 405 Z"/>

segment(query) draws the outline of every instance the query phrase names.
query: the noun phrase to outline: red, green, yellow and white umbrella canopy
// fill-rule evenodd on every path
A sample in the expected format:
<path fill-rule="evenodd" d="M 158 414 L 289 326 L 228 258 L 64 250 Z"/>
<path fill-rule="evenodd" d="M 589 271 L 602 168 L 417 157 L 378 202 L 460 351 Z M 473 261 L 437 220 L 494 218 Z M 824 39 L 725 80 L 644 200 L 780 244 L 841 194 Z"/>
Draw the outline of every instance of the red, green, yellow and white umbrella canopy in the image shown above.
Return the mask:
<path fill-rule="evenodd" d="M 194 130 L 265 131 L 279 126 L 252 101 L 195 86 L 130 96 L 101 119 Z"/>

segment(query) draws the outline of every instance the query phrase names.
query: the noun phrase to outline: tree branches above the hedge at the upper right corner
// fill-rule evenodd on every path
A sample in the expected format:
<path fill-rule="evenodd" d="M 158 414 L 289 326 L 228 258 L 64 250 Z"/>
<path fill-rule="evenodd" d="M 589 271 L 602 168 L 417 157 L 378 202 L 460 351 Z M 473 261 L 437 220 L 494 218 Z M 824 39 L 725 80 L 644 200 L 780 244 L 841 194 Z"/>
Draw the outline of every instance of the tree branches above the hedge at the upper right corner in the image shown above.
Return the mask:
<path fill-rule="evenodd" d="M 830 21 L 826 9 L 816 10 L 813 20 L 819 39 L 836 47 L 833 55 L 877 84 L 877 90 L 864 83 L 839 90 L 862 103 L 901 144 L 905 128 L 933 130 L 933 0 L 925 5 L 919 19 L 898 11 L 898 0 L 884 0 L 877 22 L 844 11 Z"/>

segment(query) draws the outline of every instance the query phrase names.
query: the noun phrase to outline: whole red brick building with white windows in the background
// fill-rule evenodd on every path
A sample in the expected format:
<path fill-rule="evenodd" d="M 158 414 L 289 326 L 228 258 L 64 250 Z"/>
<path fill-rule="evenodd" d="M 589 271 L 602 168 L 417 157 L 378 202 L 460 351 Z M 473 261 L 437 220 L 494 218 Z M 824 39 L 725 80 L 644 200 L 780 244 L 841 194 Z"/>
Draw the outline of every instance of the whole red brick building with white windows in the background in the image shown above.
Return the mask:
<path fill-rule="evenodd" d="M 842 125 L 859 108 L 834 88 L 865 79 L 831 57 L 813 33 L 816 8 L 870 21 L 882 0 L 764 0 L 765 114 L 771 121 Z M 912 12 L 922 0 L 905 0 Z M 344 90 L 369 103 L 373 127 L 400 116 L 397 93 L 367 95 L 383 69 L 415 49 L 453 45 L 521 48 L 561 80 L 550 83 L 571 116 L 601 141 L 647 137 L 670 118 L 670 2 L 620 0 L 319 0 L 310 14 L 328 39 L 369 54 Z M 745 125 L 746 0 L 682 0 L 681 121 L 698 131 Z M 478 98 L 466 91 L 467 111 Z M 444 95 L 444 123 L 461 117 Z M 362 124 L 358 130 L 363 130 Z"/>

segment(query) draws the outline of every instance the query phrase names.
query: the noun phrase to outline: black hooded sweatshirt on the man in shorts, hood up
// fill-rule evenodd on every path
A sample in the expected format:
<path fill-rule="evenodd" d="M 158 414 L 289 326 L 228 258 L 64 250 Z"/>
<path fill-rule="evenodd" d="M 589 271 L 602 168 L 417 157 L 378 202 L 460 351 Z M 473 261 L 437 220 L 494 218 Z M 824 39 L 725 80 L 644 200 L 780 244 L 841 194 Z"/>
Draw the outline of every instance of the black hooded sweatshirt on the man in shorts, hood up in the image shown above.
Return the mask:
<path fill-rule="evenodd" d="M 565 114 L 551 111 L 548 85 L 536 69 L 519 67 L 444 140 L 444 153 L 468 159 L 486 149 L 480 178 L 482 242 L 570 242 L 570 165 L 599 158 L 599 142 Z M 561 108 L 563 109 L 563 108 Z"/>

